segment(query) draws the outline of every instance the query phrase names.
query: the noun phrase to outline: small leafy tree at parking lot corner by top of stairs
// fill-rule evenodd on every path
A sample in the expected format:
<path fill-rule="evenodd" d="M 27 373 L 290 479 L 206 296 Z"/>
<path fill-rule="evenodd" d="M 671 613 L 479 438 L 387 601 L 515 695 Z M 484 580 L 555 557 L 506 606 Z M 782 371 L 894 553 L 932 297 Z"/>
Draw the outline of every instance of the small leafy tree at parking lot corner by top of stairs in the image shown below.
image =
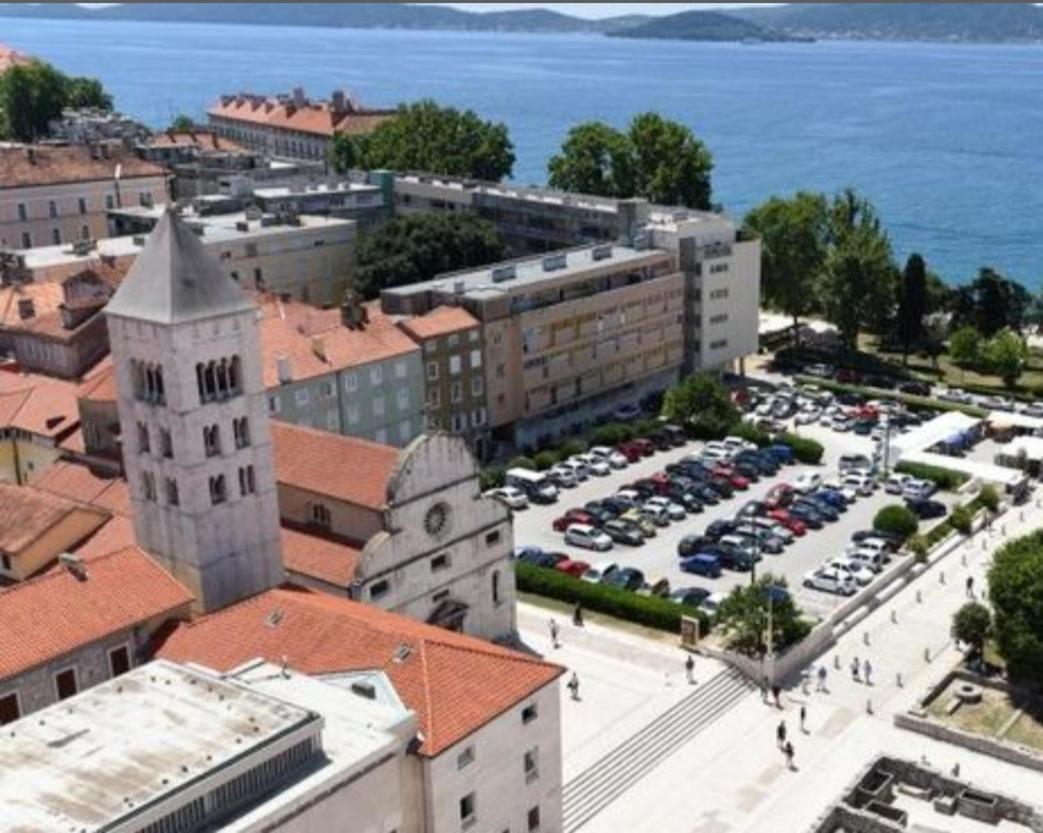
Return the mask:
<path fill-rule="evenodd" d="M 785 579 L 761 575 L 754 585 L 741 585 L 721 603 L 717 627 L 724 633 L 728 646 L 751 657 L 768 651 L 778 653 L 799 642 L 810 631 L 792 593 L 771 603 L 772 644 L 768 644 L 769 594 L 773 587 L 785 587 Z"/>

